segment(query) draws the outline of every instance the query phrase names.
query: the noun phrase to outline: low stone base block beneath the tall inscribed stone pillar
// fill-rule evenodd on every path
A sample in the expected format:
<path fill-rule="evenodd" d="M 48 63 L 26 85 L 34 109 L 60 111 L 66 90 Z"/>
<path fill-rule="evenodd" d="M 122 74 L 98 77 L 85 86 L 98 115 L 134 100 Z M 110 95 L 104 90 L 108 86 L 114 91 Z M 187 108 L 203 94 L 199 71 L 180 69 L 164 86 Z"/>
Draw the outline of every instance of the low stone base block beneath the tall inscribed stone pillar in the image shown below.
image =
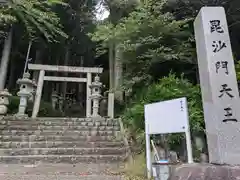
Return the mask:
<path fill-rule="evenodd" d="M 177 167 L 169 180 L 239 180 L 240 166 L 186 164 Z"/>

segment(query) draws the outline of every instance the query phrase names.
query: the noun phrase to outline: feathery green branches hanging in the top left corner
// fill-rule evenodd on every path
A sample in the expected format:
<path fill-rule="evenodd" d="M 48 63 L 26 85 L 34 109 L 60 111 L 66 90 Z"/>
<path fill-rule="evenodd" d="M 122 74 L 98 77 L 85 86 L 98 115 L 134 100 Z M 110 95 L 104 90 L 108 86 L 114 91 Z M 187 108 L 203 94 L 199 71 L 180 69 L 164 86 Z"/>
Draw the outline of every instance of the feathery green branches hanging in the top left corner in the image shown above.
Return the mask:
<path fill-rule="evenodd" d="M 59 23 L 60 19 L 52 11 L 55 5 L 66 5 L 61 0 L 9 0 L 0 8 L 0 21 L 21 25 L 30 39 L 43 36 L 47 41 L 57 37 L 67 38 Z"/>

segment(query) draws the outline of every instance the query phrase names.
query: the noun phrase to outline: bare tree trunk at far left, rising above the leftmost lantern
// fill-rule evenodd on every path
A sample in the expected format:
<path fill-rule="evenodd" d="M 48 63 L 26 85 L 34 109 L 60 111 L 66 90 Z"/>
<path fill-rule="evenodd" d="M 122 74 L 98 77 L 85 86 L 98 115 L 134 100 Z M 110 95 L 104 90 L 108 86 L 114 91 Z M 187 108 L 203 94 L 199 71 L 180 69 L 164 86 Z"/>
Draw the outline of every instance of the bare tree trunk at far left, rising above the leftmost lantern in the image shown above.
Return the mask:
<path fill-rule="evenodd" d="M 7 39 L 4 42 L 1 66 L 0 66 L 0 91 L 4 89 L 6 78 L 7 78 L 7 70 L 11 53 L 12 46 L 12 29 L 10 30 Z"/>

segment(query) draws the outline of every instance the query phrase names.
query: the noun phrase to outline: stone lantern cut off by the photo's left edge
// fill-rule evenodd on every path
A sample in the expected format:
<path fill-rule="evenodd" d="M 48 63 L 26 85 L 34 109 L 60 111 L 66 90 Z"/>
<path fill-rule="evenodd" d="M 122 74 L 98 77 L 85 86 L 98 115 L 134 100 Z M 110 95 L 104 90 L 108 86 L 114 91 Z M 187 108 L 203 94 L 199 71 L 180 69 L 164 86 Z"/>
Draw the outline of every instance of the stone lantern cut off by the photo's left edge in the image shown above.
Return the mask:
<path fill-rule="evenodd" d="M 7 89 L 0 91 L 0 116 L 7 114 L 7 106 L 9 105 L 9 97 L 12 96 Z"/>

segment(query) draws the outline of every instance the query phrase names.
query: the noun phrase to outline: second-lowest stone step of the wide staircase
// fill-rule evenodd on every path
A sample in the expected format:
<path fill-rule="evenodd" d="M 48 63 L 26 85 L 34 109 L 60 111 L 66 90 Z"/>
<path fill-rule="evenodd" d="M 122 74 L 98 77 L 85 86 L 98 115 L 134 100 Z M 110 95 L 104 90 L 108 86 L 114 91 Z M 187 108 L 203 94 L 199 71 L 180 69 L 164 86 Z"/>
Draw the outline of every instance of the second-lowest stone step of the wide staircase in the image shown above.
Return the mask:
<path fill-rule="evenodd" d="M 126 148 L 14 148 L 0 149 L 0 156 L 25 155 L 124 155 Z"/>

